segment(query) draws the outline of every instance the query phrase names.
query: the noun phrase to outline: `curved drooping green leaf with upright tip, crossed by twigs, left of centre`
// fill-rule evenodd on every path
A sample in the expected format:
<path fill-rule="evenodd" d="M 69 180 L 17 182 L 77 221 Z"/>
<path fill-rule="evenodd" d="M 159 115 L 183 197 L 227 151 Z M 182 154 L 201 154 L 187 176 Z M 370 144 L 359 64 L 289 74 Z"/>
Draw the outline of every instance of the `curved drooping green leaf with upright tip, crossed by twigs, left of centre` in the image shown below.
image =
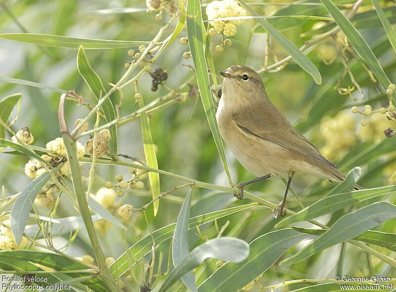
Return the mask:
<path fill-rule="evenodd" d="M 98 74 L 91 67 L 88 62 L 87 56 L 85 54 L 84 48 L 81 46 L 77 54 L 77 68 L 80 72 L 81 77 L 84 78 L 85 82 L 98 99 L 106 94 L 106 90 L 98 76 Z M 109 123 L 116 119 L 113 103 L 108 97 L 101 105 L 103 114 L 105 116 L 106 122 Z M 109 128 L 111 139 L 110 139 L 110 153 L 117 154 L 117 125 L 111 125 Z"/>

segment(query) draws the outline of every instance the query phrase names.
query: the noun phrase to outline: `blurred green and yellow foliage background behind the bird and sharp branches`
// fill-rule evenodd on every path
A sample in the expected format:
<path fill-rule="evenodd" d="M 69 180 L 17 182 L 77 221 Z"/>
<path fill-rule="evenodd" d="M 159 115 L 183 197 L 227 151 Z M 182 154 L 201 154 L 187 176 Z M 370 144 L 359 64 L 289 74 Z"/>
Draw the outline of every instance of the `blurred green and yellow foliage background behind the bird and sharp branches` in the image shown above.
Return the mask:
<path fill-rule="evenodd" d="M 284 2 L 286 0 L 270 0 L 265 5 L 252 7 L 264 15 L 329 16 L 321 5 L 303 5 L 308 2 L 304 0 L 293 3 L 290 1 L 291 4 Z M 298 5 L 298 2 L 301 5 Z M 316 0 L 309 2 L 319 3 Z M 353 4 L 350 0 L 334 2 L 339 5 L 340 9 L 350 8 Z M 395 1 L 385 0 L 380 1 L 380 4 L 387 18 L 395 27 Z M 125 7 L 142 9 L 134 13 L 100 13 L 97 11 L 98 9 Z M 0 11 L 1 33 L 30 32 L 107 40 L 150 41 L 169 20 L 166 13 L 163 20 L 155 20 L 155 13 L 147 14 L 145 3 L 138 0 L 113 0 L 111 2 L 103 0 L 0 0 Z M 206 17 L 205 13 L 202 15 L 204 18 Z M 305 41 L 315 35 L 335 27 L 332 21 L 288 17 L 273 18 L 269 22 L 297 47 L 302 46 Z M 370 1 L 363 2 L 355 18 L 352 19 L 352 23 L 379 59 L 389 79 L 396 80 L 395 50 L 392 49 Z M 206 22 L 205 25 L 208 23 Z M 172 30 L 173 27 L 168 28 L 164 36 L 169 35 Z M 179 38 L 186 36 L 187 33 L 183 30 Z M 183 53 L 189 51 L 188 46 L 180 45 L 179 38 L 152 65 L 153 69 L 161 67 L 166 70 L 168 79 L 164 84 L 170 89 L 177 88 L 188 80 L 191 80 L 193 86 L 196 85 L 196 80 L 193 78 L 195 73 L 191 69 L 193 61 L 183 58 Z M 267 34 L 257 26 L 254 19 L 245 20 L 238 26 L 237 34 L 230 39 L 233 43 L 232 46 L 224 48 L 222 53 L 215 52 L 215 46 L 221 43 L 221 36 L 217 35 L 210 40 L 210 52 L 216 71 L 225 70 L 235 64 L 247 65 L 256 70 L 262 69 L 267 49 L 269 49 L 269 64 L 288 56 L 285 50 L 272 39 L 270 39 L 270 48 L 266 48 Z M 343 172 L 347 173 L 353 167 L 360 166 L 363 174 L 359 184 L 363 188 L 391 185 L 394 184 L 396 172 L 395 138 L 386 138 L 383 131 L 387 127 L 393 127 L 394 122 L 389 121 L 386 115 L 378 112 L 368 116 L 368 125 L 362 127 L 360 120 L 364 116 L 353 114 L 350 110 L 352 106 L 358 106 L 361 111 L 364 111 L 364 105 L 367 104 L 372 106 L 373 111 L 380 110 L 382 107 L 388 108 L 389 100 L 383 88 L 378 82 L 373 82 L 370 72 L 365 69 L 360 60 L 356 59 L 357 54 L 356 52 L 352 53 L 353 50 L 345 50 L 345 57 L 350 72 L 361 87 L 361 92 L 357 90 L 348 74 L 342 78 L 345 67 L 337 50 L 347 47 L 345 36 L 339 33 L 336 38 L 330 37 L 321 41 L 308 54 L 309 59 L 322 75 L 321 85 L 315 84 L 311 76 L 293 61 L 282 67 L 281 70 L 264 72 L 261 76 L 272 102 L 296 126 L 298 131 L 317 146 L 324 156 L 339 166 Z M 138 48 L 131 49 L 138 50 Z M 106 89 L 110 88 L 108 83 L 115 83 L 125 72 L 124 64 L 131 60 L 131 57 L 127 55 L 127 50 L 86 50 L 88 60 L 100 76 Z M 30 80 L 64 90 L 74 90 L 84 99 L 94 103 L 95 98 L 77 71 L 76 55 L 76 49 L 40 47 L 0 39 L 0 75 Z M 221 83 L 219 76 L 217 76 L 217 82 Z M 162 86 L 158 91 L 152 92 L 150 90 L 151 78 L 148 74 L 139 80 L 139 86 L 145 104 L 168 93 L 168 90 Z M 348 87 L 355 90 L 348 93 L 346 92 Z M 185 86 L 180 92 L 187 92 L 189 89 L 189 86 Z M 211 90 L 213 96 L 216 96 L 218 88 L 212 87 Z M 14 93 L 22 93 L 23 96 L 18 120 L 12 126 L 15 132 L 28 126 L 35 137 L 34 145 L 42 147 L 45 147 L 50 140 L 60 136 L 57 120 L 59 93 L 24 85 L 0 83 L 1 98 Z M 135 106 L 134 86 L 124 88 L 122 93 L 124 100 L 120 112 L 121 116 L 124 116 L 136 110 L 138 106 Z M 110 98 L 116 104 L 119 102 L 120 94 L 117 92 Z M 76 102 L 67 101 L 66 113 L 69 127 L 72 127 L 74 121 L 84 117 L 88 110 Z M 92 126 L 95 120 L 89 122 Z M 155 113 L 150 116 L 149 123 L 159 169 L 203 182 L 228 186 L 227 177 L 198 96 L 188 97 L 185 101 L 177 102 Z M 139 119 L 121 126 L 118 137 L 118 152 L 143 159 L 143 141 Z M 7 136 L 7 139 L 9 138 Z M 84 144 L 86 141 L 87 138 L 83 138 L 80 142 Z M 226 156 L 234 183 L 254 178 L 252 174 L 243 169 L 227 147 Z M 20 192 L 30 182 L 30 178 L 24 175 L 23 169 L 28 160 L 29 157 L 22 155 L 1 154 L 0 182 L 5 188 L 6 195 Z M 88 176 L 89 167 L 89 164 L 84 164 L 83 175 Z M 116 174 L 128 177 L 128 169 L 122 166 L 97 165 L 97 174 L 93 193 L 104 187 L 105 182 L 114 182 Z M 148 191 L 147 178 L 144 178 L 143 181 L 146 185 L 144 190 L 127 191 L 122 198 L 116 199 L 116 203 L 110 209 L 114 212 L 117 206 L 123 203 L 129 203 L 135 207 L 146 204 L 151 199 L 151 194 Z M 170 176 L 161 175 L 160 181 L 161 192 L 180 185 L 179 180 Z M 302 202 L 309 205 L 326 195 L 335 185 L 335 183 L 331 184 L 313 177 L 297 175 L 292 187 Z M 277 203 L 283 195 L 284 188 L 281 181 L 264 181 L 250 185 L 247 190 Z M 186 189 L 182 189 L 161 199 L 156 217 L 153 217 L 152 211 L 147 212 L 151 231 L 176 221 L 186 193 Z M 386 199 L 392 203 L 396 201 L 394 194 L 388 195 Z M 370 199 L 359 203 L 359 206 L 368 205 L 376 200 L 380 199 Z M 191 217 L 244 203 L 246 200 L 236 200 L 231 194 L 197 188 L 193 193 Z M 41 214 L 48 213 L 48 208 L 40 205 L 36 207 Z M 287 207 L 299 210 L 293 196 L 288 198 Z M 326 215 L 320 221 L 334 222 L 348 210 L 347 208 Z M 65 197 L 61 198 L 56 216 L 60 218 L 77 215 L 78 212 L 71 208 L 70 202 Z M 247 242 L 264 233 L 276 230 L 274 225 L 277 223 L 273 219 L 271 210 L 263 207 L 254 207 L 222 218 L 218 220 L 218 225 L 221 227 L 228 220 L 229 225 L 223 235 L 233 235 Z M 96 226 L 101 231 L 99 233 L 100 243 L 105 256 L 119 256 L 125 251 L 121 230 L 113 228 L 111 224 L 106 224 L 103 221 L 99 222 L 101 223 L 96 223 Z M 127 246 L 136 243 L 149 233 L 142 212 L 134 212 L 131 219 L 125 223 L 128 227 L 128 232 L 125 233 Z M 379 225 L 376 230 L 396 233 L 395 220 Z M 213 223 L 205 225 L 201 228 L 201 232 L 209 238 L 217 235 Z M 189 235 L 190 246 L 203 242 L 197 236 L 197 230 L 190 231 Z M 64 235 L 57 238 L 55 243 L 62 246 L 67 241 L 68 235 Z M 159 246 L 159 250 L 165 254 L 164 263 L 167 262 L 169 244 L 170 240 L 167 240 Z M 301 248 L 301 244 L 298 243 L 292 247 L 289 253 L 293 254 Z M 388 273 L 387 275 L 396 277 L 394 271 L 389 272 L 388 265 L 369 257 L 354 246 L 344 247 L 343 245 L 344 255 L 340 260 L 340 248 L 341 245 L 331 247 L 292 266 L 281 267 L 275 264 L 259 282 L 268 286 L 296 278 L 332 278 L 340 269 L 343 274 L 349 276 L 376 274 L 384 276 Z M 83 231 L 67 247 L 66 252 L 71 256 L 92 254 L 92 248 Z M 197 277 L 198 283 L 206 279 L 216 269 L 215 262 L 215 260 L 208 260 L 204 264 L 206 269 L 200 270 L 201 274 Z M 166 267 L 166 264 L 163 266 Z M 137 273 L 139 274 L 139 272 Z M 142 276 L 140 278 L 141 285 L 144 284 L 143 278 Z M 292 285 L 290 289 L 299 287 L 302 287 L 301 284 Z M 136 283 L 133 283 L 127 285 L 125 290 L 138 291 L 138 288 Z"/>

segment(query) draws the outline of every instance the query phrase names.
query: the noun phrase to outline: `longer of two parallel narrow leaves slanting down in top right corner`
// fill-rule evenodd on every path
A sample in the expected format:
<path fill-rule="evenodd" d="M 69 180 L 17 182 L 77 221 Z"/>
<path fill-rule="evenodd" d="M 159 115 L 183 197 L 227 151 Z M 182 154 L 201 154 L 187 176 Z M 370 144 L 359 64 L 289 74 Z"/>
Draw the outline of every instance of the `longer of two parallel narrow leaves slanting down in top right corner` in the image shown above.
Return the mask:
<path fill-rule="evenodd" d="M 334 20 L 340 26 L 341 30 L 347 36 L 349 42 L 352 44 L 353 48 L 361 56 L 363 61 L 368 65 L 371 71 L 379 80 L 385 91 L 391 84 L 388 76 L 385 74 L 384 69 L 382 69 L 381 64 L 378 62 L 373 51 L 367 45 L 366 41 L 357 31 L 357 29 L 352 25 L 352 23 L 347 19 L 347 17 L 337 8 L 337 6 L 331 0 L 321 0 L 323 5 L 326 7 L 327 11 L 333 16 Z M 396 98 L 394 98 L 396 101 Z"/>

